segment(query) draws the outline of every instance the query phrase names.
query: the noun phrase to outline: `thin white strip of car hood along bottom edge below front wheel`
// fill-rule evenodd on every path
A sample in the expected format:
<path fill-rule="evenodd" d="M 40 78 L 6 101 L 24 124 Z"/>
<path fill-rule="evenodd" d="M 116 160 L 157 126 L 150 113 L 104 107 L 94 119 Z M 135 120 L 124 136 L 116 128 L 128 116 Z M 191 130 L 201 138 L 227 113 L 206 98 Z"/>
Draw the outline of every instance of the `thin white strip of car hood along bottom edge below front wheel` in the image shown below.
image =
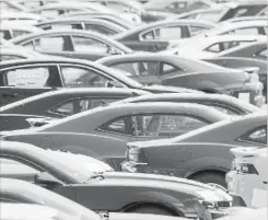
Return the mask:
<path fill-rule="evenodd" d="M 168 217 L 165 216 L 165 220 L 187 220 L 180 217 Z M 120 213 L 120 212 L 109 212 L 108 220 L 163 220 L 161 215 L 150 215 L 150 213 Z"/>

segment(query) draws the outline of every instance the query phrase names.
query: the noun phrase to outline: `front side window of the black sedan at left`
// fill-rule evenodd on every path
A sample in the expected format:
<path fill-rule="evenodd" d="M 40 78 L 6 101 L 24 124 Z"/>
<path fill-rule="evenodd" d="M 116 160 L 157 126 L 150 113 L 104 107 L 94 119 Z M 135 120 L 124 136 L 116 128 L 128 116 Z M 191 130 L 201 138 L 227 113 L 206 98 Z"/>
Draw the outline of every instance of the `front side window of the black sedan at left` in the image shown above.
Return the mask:
<path fill-rule="evenodd" d="M 108 78 L 91 69 L 80 67 L 61 67 L 66 86 L 70 88 L 106 88 Z"/>

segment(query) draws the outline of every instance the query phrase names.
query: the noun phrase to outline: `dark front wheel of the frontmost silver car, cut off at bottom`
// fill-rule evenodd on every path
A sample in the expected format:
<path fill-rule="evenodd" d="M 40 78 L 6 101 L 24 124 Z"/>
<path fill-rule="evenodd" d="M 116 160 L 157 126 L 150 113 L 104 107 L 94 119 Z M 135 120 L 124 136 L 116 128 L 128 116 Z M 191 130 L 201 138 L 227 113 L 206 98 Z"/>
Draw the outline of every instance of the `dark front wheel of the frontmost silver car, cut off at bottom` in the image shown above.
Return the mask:
<path fill-rule="evenodd" d="M 172 212 L 165 208 L 158 207 L 158 206 L 139 206 L 139 207 L 129 209 L 127 212 L 175 216 L 174 212 Z"/>

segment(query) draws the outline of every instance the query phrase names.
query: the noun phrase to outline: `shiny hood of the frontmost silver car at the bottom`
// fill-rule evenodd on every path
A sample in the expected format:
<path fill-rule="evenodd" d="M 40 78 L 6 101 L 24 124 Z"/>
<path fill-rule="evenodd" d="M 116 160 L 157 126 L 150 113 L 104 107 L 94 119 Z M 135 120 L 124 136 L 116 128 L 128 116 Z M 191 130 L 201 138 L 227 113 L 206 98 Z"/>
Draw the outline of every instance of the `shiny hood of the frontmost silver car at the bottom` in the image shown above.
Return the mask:
<path fill-rule="evenodd" d="M 175 176 L 125 172 L 106 172 L 103 176 L 104 180 L 102 180 L 102 184 L 104 185 L 117 183 L 118 185 L 124 184 L 124 186 L 133 186 L 132 184 L 136 183 L 135 186 L 140 187 L 153 186 L 154 188 L 170 188 L 176 192 L 187 193 L 207 201 L 232 201 L 232 197 L 220 188 Z"/>

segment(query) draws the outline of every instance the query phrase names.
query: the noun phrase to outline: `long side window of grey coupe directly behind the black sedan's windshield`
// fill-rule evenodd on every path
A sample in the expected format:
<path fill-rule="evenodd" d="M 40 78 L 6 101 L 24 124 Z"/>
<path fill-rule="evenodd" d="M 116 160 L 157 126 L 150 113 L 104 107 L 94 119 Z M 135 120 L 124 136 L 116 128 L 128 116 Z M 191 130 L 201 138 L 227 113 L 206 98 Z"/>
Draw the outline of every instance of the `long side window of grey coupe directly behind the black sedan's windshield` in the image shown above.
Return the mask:
<path fill-rule="evenodd" d="M 139 81 L 142 84 L 161 84 L 159 79 L 159 61 L 128 61 L 118 62 L 110 66 L 124 70 L 128 77 Z"/>

